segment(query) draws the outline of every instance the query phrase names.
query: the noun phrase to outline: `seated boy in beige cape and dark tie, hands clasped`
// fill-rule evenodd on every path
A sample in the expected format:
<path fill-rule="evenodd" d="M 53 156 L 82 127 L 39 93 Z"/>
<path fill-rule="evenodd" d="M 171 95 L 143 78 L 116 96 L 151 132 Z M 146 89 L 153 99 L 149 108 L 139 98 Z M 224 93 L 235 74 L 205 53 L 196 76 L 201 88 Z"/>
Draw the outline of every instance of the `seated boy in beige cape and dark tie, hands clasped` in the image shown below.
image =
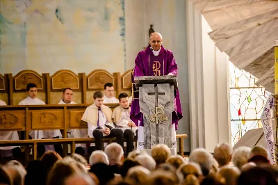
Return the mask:
<path fill-rule="evenodd" d="M 93 97 L 95 99 L 94 104 L 86 108 L 82 120 L 88 123 L 88 135 L 90 138 L 95 138 L 96 150 L 103 150 L 102 138 L 113 137 L 124 149 L 124 133 L 122 129 L 114 127 L 112 111 L 108 106 L 104 105 L 104 95 L 97 91 Z"/>

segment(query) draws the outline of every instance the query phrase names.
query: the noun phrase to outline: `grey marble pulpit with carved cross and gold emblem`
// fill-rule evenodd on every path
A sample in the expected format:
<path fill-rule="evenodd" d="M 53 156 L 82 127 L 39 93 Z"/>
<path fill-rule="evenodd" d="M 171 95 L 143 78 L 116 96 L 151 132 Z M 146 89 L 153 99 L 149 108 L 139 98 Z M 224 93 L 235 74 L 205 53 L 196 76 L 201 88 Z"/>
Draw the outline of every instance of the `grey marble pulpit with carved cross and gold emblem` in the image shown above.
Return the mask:
<path fill-rule="evenodd" d="M 174 111 L 174 88 L 177 88 L 176 76 L 144 76 L 135 77 L 139 88 L 140 112 L 143 114 L 143 140 L 139 139 L 138 149 L 151 154 L 157 144 L 167 145 L 172 154 L 177 154 L 177 142 L 172 128 L 172 112 Z M 143 143 L 143 144 L 142 144 Z"/>

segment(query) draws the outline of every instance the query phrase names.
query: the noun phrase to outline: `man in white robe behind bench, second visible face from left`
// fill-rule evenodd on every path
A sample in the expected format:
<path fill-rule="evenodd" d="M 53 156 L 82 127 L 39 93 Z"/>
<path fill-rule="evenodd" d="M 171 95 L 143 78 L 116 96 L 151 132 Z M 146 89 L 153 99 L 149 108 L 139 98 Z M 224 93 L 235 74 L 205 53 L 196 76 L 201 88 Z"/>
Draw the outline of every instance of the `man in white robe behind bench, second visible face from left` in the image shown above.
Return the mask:
<path fill-rule="evenodd" d="M 58 104 L 76 104 L 76 102 L 72 101 L 72 96 L 73 96 L 73 90 L 71 88 L 65 88 L 63 90 L 63 95 L 62 99 Z M 87 129 L 68 129 L 67 130 L 67 138 L 88 138 L 88 131 Z M 86 147 L 86 144 L 75 144 L 76 149 L 75 153 L 76 154 L 85 154 L 85 150 L 83 147 Z"/>

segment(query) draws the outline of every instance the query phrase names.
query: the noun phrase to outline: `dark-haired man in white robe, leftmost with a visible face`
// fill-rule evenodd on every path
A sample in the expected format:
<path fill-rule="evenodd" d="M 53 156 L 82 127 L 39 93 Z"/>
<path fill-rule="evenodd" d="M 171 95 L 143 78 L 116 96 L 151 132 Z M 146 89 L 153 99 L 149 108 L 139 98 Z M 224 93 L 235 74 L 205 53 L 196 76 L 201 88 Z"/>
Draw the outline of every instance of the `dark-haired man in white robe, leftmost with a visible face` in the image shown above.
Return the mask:
<path fill-rule="evenodd" d="M 44 105 L 45 103 L 37 98 L 37 86 L 35 83 L 28 83 L 26 92 L 28 97 L 23 99 L 21 102 L 19 102 L 19 105 Z M 30 131 L 29 136 L 31 136 L 32 139 L 42 139 L 42 138 L 62 138 L 62 134 L 60 133 L 60 130 L 35 130 Z M 62 155 L 63 150 L 61 145 L 38 145 L 38 155 L 41 156 L 46 152 L 47 150 L 54 150 L 58 152 L 60 155 Z"/>

